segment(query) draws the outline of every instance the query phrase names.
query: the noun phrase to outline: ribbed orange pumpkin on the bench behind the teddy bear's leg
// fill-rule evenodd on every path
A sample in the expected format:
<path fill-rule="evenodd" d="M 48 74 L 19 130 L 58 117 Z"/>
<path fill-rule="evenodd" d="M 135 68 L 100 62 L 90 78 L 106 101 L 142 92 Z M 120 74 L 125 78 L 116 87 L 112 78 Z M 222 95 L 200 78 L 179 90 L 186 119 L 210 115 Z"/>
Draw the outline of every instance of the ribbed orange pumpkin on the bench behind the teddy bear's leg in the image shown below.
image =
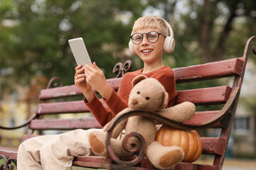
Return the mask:
<path fill-rule="evenodd" d="M 163 125 L 156 133 L 156 141 L 163 146 L 178 146 L 183 149 L 183 162 L 194 162 L 202 152 L 202 142 L 196 130 L 178 130 Z"/>

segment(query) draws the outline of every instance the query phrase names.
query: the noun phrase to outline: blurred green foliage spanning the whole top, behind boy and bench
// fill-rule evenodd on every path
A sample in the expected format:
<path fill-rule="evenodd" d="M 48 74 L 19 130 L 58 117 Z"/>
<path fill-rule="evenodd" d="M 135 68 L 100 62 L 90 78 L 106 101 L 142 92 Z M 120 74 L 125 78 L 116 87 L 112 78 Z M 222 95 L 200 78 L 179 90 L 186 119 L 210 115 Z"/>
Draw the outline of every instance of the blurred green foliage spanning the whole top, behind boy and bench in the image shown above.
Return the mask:
<path fill-rule="evenodd" d="M 256 34 L 254 1 L 1 0 L 1 70 L 13 69 L 8 77 L 13 84 L 30 84 L 38 75 L 73 84 L 75 60 L 68 40 L 78 37 L 84 38 L 92 61 L 105 70 L 106 77 L 114 77 L 114 64 L 127 59 L 139 69 L 142 62 L 125 52 L 132 25 L 140 16 L 157 11 L 174 28 L 176 49 L 164 55 L 170 67 L 218 60 L 222 55 L 238 57 L 247 38 Z M 234 11 L 237 20 L 226 31 Z"/>

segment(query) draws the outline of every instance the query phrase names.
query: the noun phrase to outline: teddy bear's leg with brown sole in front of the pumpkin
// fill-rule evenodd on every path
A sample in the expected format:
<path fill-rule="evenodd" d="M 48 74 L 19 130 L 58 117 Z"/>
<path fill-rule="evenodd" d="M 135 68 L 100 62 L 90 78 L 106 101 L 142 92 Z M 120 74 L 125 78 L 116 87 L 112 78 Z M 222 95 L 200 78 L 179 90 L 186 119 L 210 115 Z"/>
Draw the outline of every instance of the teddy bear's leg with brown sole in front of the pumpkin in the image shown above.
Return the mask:
<path fill-rule="evenodd" d="M 147 147 L 146 157 L 157 169 L 169 169 L 183 160 L 184 152 L 181 147 L 164 147 L 154 141 Z"/>

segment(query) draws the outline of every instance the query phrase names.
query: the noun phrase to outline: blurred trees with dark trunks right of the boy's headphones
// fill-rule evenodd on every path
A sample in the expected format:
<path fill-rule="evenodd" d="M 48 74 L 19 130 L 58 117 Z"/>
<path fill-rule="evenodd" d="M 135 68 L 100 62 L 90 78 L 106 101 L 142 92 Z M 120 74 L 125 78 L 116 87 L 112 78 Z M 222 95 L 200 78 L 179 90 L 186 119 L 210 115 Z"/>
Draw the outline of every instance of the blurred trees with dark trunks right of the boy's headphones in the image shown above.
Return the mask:
<path fill-rule="evenodd" d="M 174 28 L 176 67 L 238 57 L 256 35 L 255 1 L 149 1 Z"/>

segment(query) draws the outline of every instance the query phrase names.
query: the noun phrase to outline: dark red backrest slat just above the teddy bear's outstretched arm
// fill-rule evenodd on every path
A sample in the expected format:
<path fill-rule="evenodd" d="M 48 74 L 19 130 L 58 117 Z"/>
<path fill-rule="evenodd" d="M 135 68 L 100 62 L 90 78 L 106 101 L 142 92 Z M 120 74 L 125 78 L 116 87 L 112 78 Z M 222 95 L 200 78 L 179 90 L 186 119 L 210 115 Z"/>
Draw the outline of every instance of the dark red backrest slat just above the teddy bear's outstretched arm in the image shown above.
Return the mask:
<path fill-rule="evenodd" d="M 196 105 L 222 104 L 228 101 L 231 91 L 232 88 L 230 86 L 178 91 L 176 104 L 184 101 L 191 101 Z"/>

